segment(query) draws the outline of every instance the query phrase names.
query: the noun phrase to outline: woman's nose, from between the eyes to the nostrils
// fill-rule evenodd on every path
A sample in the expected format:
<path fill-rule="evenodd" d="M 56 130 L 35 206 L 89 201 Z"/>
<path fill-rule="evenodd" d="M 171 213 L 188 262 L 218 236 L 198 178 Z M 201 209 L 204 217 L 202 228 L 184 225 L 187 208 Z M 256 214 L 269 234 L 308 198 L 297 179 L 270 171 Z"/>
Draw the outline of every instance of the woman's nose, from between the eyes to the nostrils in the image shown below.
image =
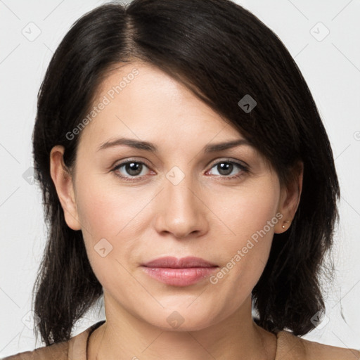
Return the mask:
<path fill-rule="evenodd" d="M 179 238 L 193 231 L 202 233 L 206 226 L 204 205 L 199 200 L 200 194 L 196 195 L 199 187 L 194 184 L 193 176 L 174 166 L 167 172 L 164 186 L 158 213 L 158 231 L 168 231 Z"/>

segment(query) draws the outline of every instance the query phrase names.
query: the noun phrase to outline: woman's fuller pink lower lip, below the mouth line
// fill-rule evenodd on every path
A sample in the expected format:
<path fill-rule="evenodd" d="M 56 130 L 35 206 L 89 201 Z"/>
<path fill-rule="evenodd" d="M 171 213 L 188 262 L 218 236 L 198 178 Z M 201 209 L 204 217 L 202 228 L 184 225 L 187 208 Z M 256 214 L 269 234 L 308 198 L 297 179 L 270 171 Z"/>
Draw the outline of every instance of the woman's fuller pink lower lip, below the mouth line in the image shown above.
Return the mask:
<path fill-rule="evenodd" d="M 173 269 L 142 266 L 146 274 L 151 278 L 173 286 L 188 286 L 198 283 L 211 275 L 218 267 L 219 266 Z"/>

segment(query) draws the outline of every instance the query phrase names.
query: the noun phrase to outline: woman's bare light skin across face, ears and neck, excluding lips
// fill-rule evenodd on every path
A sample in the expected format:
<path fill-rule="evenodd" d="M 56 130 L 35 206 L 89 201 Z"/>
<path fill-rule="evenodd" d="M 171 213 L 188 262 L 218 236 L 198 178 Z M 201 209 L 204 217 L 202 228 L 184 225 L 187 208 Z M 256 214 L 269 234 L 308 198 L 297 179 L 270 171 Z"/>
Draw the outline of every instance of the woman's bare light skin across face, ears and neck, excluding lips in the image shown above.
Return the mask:
<path fill-rule="evenodd" d="M 203 153 L 209 143 L 244 138 L 148 64 L 127 63 L 113 72 L 95 103 L 134 68 L 139 75 L 82 130 L 75 169 L 65 169 L 62 146 L 50 155 L 65 220 L 82 231 L 104 290 L 106 322 L 90 337 L 88 359 L 274 359 L 276 336 L 252 321 L 251 291 L 274 233 L 286 231 L 285 221 L 294 217 L 302 172 L 285 188 L 252 146 Z M 120 136 L 154 143 L 158 153 L 123 145 L 97 151 Z M 112 171 L 129 159 L 145 164 L 139 175 L 126 167 Z M 221 172 L 221 160 L 245 162 L 249 172 L 237 165 Z M 184 173 L 176 185 L 167 179 L 174 166 Z M 167 255 L 202 257 L 223 268 L 277 213 L 282 219 L 215 284 L 205 278 L 175 287 L 141 268 Z M 113 246 L 105 257 L 94 250 L 102 238 Z M 173 311 L 184 319 L 178 328 L 167 321 Z"/>

